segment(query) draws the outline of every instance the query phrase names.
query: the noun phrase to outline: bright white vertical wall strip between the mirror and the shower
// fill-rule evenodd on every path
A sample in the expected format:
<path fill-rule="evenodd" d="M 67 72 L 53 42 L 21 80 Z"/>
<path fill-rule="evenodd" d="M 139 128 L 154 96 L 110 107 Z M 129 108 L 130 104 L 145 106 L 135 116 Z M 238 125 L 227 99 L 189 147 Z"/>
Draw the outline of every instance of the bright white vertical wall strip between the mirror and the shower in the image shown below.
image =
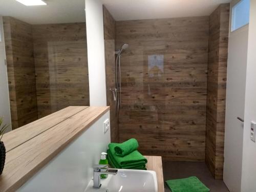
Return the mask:
<path fill-rule="evenodd" d="M 91 106 L 106 106 L 103 9 L 101 0 L 86 0 L 86 28 Z"/>

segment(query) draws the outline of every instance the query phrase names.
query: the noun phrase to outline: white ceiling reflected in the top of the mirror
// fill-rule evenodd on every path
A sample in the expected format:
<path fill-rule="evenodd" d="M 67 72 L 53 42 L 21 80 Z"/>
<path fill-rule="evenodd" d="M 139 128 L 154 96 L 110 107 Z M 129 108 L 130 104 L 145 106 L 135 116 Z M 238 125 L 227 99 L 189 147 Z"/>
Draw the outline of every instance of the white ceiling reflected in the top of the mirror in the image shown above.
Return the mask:
<path fill-rule="evenodd" d="M 29 24 L 85 22 L 85 0 L 45 0 L 47 6 L 25 6 L 15 0 L 0 0 L 0 15 Z"/>

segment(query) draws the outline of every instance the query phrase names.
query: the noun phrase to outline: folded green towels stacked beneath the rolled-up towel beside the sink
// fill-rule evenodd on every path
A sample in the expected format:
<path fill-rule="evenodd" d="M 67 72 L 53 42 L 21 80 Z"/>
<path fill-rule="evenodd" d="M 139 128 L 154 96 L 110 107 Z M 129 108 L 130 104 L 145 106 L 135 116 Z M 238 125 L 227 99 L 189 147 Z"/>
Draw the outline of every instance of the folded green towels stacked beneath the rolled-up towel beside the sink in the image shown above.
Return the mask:
<path fill-rule="evenodd" d="M 117 145 L 118 143 L 110 143 L 109 150 L 107 152 L 109 162 L 113 167 L 129 169 L 137 169 L 140 167 L 141 169 L 145 169 L 147 159 L 143 155 L 141 155 L 138 151 L 133 151 L 124 157 L 117 156 L 114 149 Z"/>

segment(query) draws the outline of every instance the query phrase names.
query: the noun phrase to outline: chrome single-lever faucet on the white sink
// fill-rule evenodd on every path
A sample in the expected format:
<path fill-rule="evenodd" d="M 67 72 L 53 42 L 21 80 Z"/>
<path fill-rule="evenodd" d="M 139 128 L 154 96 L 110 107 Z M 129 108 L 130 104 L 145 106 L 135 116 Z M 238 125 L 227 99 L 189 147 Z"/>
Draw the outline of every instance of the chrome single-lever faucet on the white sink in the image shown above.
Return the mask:
<path fill-rule="evenodd" d="M 116 175 L 118 170 L 113 168 L 108 168 L 109 165 L 95 165 L 93 167 L 93 188 L 100 188 L 100 175 Z"/>

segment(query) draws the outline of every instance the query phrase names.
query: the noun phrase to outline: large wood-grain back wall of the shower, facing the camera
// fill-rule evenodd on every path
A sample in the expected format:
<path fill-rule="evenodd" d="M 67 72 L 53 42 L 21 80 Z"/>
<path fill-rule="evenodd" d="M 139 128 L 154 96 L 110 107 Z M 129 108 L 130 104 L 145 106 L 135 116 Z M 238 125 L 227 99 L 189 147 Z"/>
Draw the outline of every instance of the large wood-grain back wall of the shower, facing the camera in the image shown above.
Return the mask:
<path fill-rule="evenodd" d="M 123 42 L 120 141 L 144 155 L 204 161 L 209 18 L 116 22 Z"/>

